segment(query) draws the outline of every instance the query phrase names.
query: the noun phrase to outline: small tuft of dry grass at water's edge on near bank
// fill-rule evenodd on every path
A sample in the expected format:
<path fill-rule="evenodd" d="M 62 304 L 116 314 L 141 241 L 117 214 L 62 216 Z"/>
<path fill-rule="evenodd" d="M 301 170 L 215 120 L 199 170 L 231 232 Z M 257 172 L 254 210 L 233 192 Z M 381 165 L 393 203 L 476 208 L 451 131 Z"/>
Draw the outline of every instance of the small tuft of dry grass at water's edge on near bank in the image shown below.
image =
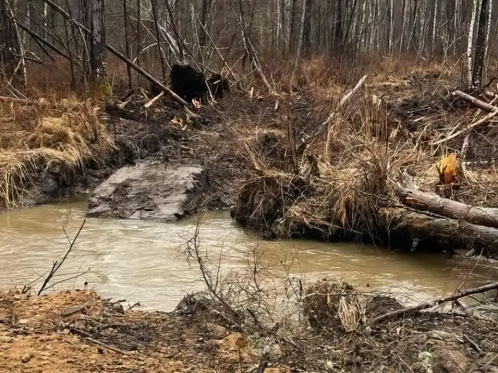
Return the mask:
<path fill-rule="evenodd" d="M 370 299 L 340 279 L 312 283 L 303 296 L 303 313 L 313 328 L 340 327 L 352 331 L 366 325 Z"/>

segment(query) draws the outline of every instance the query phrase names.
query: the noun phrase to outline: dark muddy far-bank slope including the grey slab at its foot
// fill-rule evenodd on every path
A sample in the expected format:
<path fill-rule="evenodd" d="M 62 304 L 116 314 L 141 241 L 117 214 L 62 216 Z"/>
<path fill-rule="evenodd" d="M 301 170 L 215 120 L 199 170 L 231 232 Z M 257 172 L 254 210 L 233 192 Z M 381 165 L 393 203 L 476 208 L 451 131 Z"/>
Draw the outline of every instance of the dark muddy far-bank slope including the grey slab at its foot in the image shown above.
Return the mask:
<path fill-rule="evenodd" d="M 175 215 L 195 213 L 201 207 L 217 209 L 233 205 L 237 189 L 234 178 L 240 173 L 227 167 L 230 159 L 223 159 L 223 151 L 217 149 L 228 140 L 222 144 L 207 144 L 212 133 L 219 135 L 216 131 L 220 124 L 210 126 L 204 120 L 187 125 L 181 119 L 183 111 L 174 102 L 164 99 L 165 102 L 157 103 L 160 109 L 147 111 L 142 106 L 147 100 L 138 96 L 125 109 L 116 103 L 107 104 L 98 120 L 105 124 L 106 136 L 111 136 L 114 147 L 99 154 L 98 162 L 84 160 L 70 170 L 57 160 L 33 164 L 28 178 L 21 181 L 19 195 L 12 198 L 11 206 L 29 207 L 73 192 L 92 193 L 94 190 L 96 194 L 90 201 L 94 216 L 151 218 L 155 207 L 174 202 L 175 206 L 159 212 L 156 217 L 170 220 Z M 209 114 L 210 109 L 206 109 Z M 224 135 L 228 138 L 228 134 Z M 64 146 L 62 141 L 61 144 Z M 136 183 L 132 188 L 135 195 L 139 190 L 141 198 L 150 201 L 166 198 L 169 202 L 156 200 L 152 208 L 150 203 L 144 204 L 136 198 L 118 198 L 124 196 L 124 184 L 132 180 Z M 109 183 L 116 184 L 115 188 L 122 193 L 111 190 Z M 136 210 L 142 212 L 134 213 Z"/>

